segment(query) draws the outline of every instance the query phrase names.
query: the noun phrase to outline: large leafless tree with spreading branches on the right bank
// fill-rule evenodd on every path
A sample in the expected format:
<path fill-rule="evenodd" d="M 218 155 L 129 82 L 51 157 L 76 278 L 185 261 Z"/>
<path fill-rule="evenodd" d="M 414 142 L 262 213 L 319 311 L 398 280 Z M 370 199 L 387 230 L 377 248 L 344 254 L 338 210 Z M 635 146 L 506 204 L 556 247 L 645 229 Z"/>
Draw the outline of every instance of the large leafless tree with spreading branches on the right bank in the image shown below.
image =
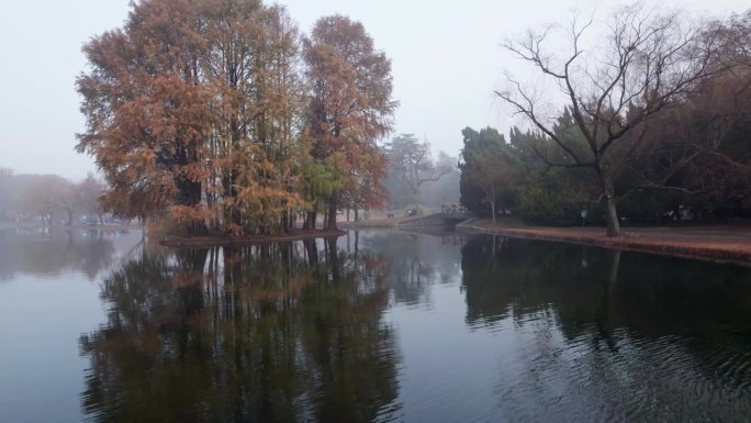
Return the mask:
<path fill-rule="evenodd" d="M 700 26 L 688 24 L 679 13 L 628 5 L 612 15 L 598 49 L 586 52 L 584 35 L 593 23 L 571 21 L 565 31 L 570 52 L 562 57 L 548 52 L 556 27 L 529 31 L 526 37 L 506 44 L 513 55 L 560 88 L 585 148 L 556 134 L 541 111 L 539 96 L 522 81 L 508 77 L 509 88 L 495 93 L 562 151 L 551 158 L 547 148 L 533 146 L 548 167 L 594 170 L 607 203 L 607 235 L 618 236 L 614 177 L 625 165 L 624 158 L 644 140 L 649 121 L 716 71 L 716 49 Z M 620 144 L 628 147 L 614 148 Z"/>

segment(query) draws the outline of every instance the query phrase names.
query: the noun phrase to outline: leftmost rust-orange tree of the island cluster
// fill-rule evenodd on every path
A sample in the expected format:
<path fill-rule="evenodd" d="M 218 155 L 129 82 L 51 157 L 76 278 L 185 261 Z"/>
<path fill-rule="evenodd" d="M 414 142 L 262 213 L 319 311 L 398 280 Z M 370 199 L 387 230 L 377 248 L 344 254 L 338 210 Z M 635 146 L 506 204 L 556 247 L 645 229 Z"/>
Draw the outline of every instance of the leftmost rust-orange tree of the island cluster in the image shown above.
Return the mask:
<path fill-rule="evenodd" d="M 83 47 L 91 71 L 77 81 L 87 116 L 77 148 L 94 156 L 111 187 L 104 204 L 126 216 L 172 212 L 193 233 L 204 230 L 202 158 L 212 115 L 200 26 L 190 1 L 134 4 L 122 30 Z"/>

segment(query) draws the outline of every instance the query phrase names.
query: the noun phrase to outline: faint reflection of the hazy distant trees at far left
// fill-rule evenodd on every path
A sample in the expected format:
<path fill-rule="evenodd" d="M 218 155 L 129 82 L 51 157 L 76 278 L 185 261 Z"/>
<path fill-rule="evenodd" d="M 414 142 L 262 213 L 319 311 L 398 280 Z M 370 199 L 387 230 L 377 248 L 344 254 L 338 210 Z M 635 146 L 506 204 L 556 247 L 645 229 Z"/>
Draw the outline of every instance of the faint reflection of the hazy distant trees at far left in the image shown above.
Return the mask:
<path fill-rule="evenodd" d="M 0 280 L 14 274 L 81 271 L 94 279 L 112 264 L 112 234 L 96 230 L 33 229 L 0 232 Z"/>

